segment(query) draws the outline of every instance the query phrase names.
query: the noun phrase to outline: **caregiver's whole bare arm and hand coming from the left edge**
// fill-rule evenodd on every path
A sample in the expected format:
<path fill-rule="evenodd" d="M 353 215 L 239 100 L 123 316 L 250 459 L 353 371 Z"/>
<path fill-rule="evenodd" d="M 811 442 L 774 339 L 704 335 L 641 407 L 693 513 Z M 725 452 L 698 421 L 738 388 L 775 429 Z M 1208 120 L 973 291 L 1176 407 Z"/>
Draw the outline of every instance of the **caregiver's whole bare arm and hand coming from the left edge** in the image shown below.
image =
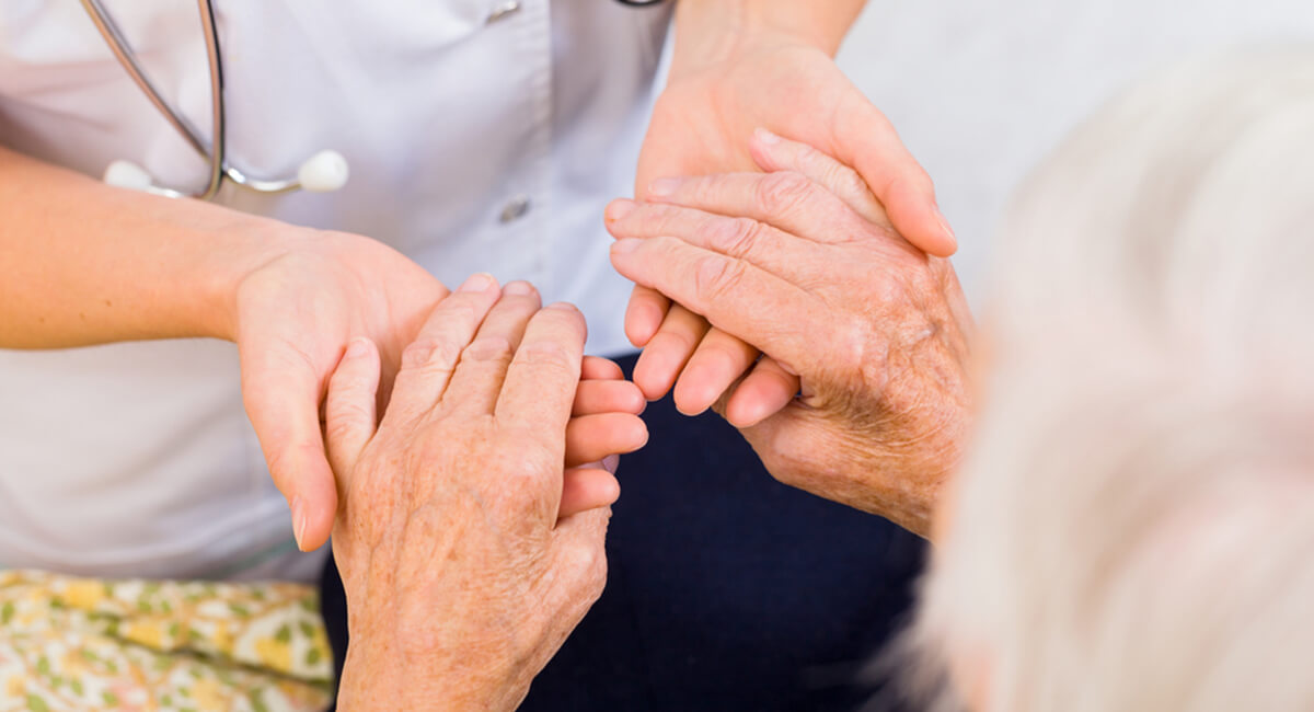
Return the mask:
<path fill-rule="evenodd" d="M 322 545 L 338 507 L 319 423 L 328 377 L 347 344 L 367 338 L 377 344 L 386 403 L 402 349 L 447 288 L 361 235 L 112 188 L 4 148 L 0 211 L 0 263 L 13 265 L 0 281 L 0 348 L 235 342 L 247 412 L 297 541 Z M 523 282 L 507 289 L 533 294 Z M 641 423 L 612 416 L 643 410 L 620 369 L 590 360 L 583 376 L 572 465 L 641 447 Z M 578 487 L 576 479 L 568 477 L 568 511 L 616 497 L 593 474 Z"/>

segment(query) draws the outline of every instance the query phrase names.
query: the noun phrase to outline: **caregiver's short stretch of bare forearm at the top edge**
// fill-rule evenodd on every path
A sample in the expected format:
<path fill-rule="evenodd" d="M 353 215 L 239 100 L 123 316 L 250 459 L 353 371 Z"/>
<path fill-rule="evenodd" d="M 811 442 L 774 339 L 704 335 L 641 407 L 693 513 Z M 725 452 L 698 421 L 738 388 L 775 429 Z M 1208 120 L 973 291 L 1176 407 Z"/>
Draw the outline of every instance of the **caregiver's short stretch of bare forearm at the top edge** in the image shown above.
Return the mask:
<path fill-rule="evenodd" d="M 746 39 L 790 37 L 830 55 L 866 0 L 681 0 L 671 71 L 731 55 Z"/>

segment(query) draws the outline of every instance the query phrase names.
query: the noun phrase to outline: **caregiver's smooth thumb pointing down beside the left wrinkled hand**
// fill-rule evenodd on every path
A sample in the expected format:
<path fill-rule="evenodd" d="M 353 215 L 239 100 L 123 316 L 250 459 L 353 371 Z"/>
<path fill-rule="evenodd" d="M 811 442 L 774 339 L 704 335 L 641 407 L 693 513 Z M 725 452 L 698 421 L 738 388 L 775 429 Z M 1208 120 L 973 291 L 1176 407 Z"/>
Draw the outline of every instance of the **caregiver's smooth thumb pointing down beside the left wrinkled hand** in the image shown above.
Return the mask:
<path fill-rule="evenodd" d="M 298 353 L 242 352 L 242 397 L 269 462 L 269 476 L 292 510 L 304 552 L 328 540 L 338 514 L 338 486 L 319 430 L 319 376 Z"/>

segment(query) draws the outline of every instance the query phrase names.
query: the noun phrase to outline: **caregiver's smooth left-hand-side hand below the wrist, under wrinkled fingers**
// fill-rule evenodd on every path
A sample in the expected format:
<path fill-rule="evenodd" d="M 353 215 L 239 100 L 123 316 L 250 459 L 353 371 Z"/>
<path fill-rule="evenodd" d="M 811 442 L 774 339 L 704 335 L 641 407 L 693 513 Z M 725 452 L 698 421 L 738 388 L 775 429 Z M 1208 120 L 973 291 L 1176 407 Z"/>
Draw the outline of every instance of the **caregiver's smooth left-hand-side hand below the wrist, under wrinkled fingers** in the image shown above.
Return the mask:
<path fill-rule="evenodd" d="M 297 543 L 310 550 L 327 541 L 338 510 L 319 422 L 334 368 L 352 339 L 377 344 L 382 410 L 402 351 L 448 290 L 414 261 L 369 238 L 294 230 L 279 239 L 286 240 L 279 256 L 251 271 L 238 286 L 235 334 L 247 414 L 273 481 L 288 498 Z M 495 286 L 486 275 L 472 281 Z M 514 284 L 507 289 L 533 293 L 524 282 Z M 643 398 L 619 381 L 620 369 L 587 360 L 585 378 L 576 412 L 581 418 L 572 426 L 568 449 L 572 465 L 643 444 L 633 443 L 632 428 L 608 430 L 616 424 L 608 414 L 643 409 Z M 568 489 L 564 511 L 610 503 L 616 497 L 611 482 L 582 477 L 578 487 Z"/>

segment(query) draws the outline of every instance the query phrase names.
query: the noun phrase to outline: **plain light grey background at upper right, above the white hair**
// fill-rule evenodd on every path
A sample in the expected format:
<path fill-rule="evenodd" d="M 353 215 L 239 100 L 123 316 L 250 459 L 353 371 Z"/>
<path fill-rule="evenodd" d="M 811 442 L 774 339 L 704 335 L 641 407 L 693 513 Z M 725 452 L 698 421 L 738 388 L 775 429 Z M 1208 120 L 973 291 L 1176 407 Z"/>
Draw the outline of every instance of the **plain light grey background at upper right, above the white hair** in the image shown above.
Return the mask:
<path fill-rule="evenodd" d="M 979 309 L 1009 194 L 1085 114 L 1175 58 L 1298 41 L 1314 0 L 870 0 L 840 64 L 936 180 Z"/>

